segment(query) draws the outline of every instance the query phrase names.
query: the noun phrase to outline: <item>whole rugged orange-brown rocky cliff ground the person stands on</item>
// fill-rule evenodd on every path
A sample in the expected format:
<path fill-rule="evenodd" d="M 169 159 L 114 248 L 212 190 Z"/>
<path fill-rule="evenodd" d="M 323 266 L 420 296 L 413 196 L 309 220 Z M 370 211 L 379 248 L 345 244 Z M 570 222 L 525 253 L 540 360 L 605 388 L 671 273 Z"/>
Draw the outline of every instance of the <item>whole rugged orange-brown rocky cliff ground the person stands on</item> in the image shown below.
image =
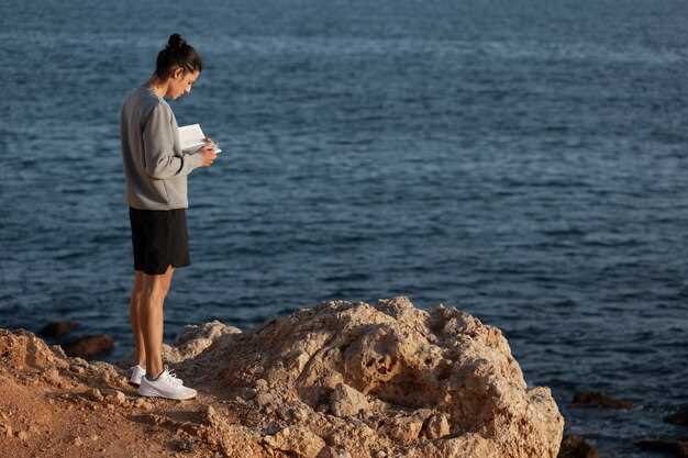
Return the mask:
<path fill-rule="evenodd" d="M 58 442 L 54 450 L 84 458 L 120 456 L 119 449 L 122 456 L 554 458 L 562 442 L 564 421 L 550 389 L 526 386 L 501 332 L 444 305 L 331 301 L 244 333 L 220 322 L 189 326 L 166 346 L 165 359 L 198 398 L 142 401 L 126 383 L 127 361 L 88 362 L 32 333 L 0 329 L 7 391 L 0 412 L 24 409 L 12 404 L 12 390 L 55 417 L 84 409 L 79 428 L 60 423 L 71 429 L 49 436 Z M 47 446 L 43 429 L 30 423 L 0 418 L 0 447 Z M 108 428 L 100 432 L 102 424 Z M 103 437 L 110 433 L 123 443 Z M 151 435 L 136 449 L 137 437 Z"/>

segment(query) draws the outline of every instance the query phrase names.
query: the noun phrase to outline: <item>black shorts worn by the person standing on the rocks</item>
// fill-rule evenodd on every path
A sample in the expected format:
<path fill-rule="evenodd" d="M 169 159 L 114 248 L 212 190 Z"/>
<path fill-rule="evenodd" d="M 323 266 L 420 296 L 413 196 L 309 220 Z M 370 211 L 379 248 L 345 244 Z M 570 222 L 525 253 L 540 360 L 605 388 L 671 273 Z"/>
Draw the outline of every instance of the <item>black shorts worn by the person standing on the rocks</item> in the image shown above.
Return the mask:
<path fill-rule="evenodd" d="M 191 264 L 186 209 L 138 210 L 129 208 L 134 248 L 134 270 L 160 275 L 167 267 Z"/>

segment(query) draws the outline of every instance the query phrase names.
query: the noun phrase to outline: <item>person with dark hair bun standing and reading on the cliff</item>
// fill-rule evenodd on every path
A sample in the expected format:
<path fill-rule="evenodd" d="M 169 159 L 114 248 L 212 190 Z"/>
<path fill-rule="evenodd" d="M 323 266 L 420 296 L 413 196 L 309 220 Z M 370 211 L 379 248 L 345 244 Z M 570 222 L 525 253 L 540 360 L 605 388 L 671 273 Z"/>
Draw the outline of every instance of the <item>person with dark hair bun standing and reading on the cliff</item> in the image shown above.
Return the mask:
<path fill-rule="evenodd" d="M 163 365 L 163 304 L 174 269 L 190 264 L 187 176 L 212 165 L 217 154 L 210 143 L 182 154 L 177 121 L 165 98 L 188 94 L 201 69 L 193 47 L 173 34 L 157 55 L 155 72 L 122 105 L 120 136 L 135 270 L 129 310 L 137 365 L 129 378 L 146 396 L 197 394 Z"/>

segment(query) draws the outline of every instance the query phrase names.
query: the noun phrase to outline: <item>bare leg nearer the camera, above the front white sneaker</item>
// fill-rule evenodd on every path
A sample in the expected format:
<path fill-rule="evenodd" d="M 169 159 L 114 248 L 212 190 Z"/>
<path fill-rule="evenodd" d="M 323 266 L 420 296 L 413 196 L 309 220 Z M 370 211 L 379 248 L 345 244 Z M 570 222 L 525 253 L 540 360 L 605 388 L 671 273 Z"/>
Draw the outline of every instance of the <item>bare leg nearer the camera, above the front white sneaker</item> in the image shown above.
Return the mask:
<path fill-rule="evenodd" d="M 171 283 L 174 268 L 163 275 L 143 273 L 143 300 L 138 321 L 146 354 L 146 372 L 156 378 L 163 371 L 163 306 Z"/>

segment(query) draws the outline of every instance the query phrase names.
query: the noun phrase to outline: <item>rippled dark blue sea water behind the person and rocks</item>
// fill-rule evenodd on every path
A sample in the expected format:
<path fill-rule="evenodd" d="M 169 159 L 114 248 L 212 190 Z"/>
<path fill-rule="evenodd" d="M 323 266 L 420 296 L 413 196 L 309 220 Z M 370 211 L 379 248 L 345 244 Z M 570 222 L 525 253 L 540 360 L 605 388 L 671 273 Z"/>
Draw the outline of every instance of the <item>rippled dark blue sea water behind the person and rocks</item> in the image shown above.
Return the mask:
<path fill-rule="evenodd" d="M 189 180 L 165 338 L 408 295 L 500 327 L 604 457 L 685 434 L 688 4 L 123 0 L 0 4 L 0 326 L 132 348 L 119 109 L 173 32 L 171 102 L 221 143 Z M 575 392 L 631 411 L 573 410 Z M 656 455 L 661 456 L 661 455 Z"/>

